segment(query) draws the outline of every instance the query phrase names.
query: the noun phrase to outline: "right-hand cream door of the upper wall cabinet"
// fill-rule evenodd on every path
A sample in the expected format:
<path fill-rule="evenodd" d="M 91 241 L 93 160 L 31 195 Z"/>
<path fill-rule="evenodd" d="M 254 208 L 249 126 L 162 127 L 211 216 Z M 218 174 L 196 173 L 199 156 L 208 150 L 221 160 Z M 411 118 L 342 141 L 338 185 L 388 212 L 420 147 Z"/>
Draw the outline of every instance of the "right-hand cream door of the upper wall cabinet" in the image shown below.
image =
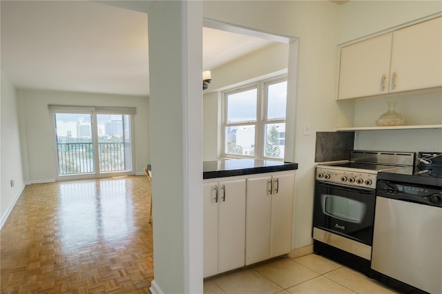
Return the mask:
<path fill-rule="evenodd" d="M 393 33 L 391 77 L 390 92 L 442 86 L 442 17 Z"/>

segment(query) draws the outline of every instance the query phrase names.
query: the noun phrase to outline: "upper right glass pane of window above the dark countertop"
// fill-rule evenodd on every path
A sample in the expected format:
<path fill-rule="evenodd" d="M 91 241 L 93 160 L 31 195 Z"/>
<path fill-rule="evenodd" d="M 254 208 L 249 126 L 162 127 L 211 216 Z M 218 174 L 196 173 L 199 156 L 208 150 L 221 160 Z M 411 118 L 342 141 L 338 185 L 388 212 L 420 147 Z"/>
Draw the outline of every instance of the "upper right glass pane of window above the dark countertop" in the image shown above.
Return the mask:
<path fill-rule="evenodd" d="M 271 84 L 267 90 L 267 119 L 285 117 L 287 104 L 287 81 Z"/>

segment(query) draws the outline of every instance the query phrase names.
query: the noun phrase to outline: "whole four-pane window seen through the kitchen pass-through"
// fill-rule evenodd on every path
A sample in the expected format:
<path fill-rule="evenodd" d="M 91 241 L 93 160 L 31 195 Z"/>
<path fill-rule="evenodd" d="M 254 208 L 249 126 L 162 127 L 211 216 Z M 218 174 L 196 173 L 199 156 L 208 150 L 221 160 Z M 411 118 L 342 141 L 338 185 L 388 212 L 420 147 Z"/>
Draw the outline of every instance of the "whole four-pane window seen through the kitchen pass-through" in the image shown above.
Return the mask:
<path fill-rule="evenodd" d="M 222 92 L 224 157 L 283 159 L 287 77 Z"/>

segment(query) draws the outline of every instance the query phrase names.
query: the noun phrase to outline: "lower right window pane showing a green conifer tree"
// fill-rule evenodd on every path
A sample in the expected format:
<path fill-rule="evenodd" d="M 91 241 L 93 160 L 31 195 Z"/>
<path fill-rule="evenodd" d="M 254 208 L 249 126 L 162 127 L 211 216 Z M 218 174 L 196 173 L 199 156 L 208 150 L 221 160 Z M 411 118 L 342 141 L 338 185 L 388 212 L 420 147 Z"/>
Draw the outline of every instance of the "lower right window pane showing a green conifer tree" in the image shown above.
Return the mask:
<path fill-rule="evenodd" d="M 284 158 L 285 123 L 266 124 L 264 128 L 264 156 Z"/>

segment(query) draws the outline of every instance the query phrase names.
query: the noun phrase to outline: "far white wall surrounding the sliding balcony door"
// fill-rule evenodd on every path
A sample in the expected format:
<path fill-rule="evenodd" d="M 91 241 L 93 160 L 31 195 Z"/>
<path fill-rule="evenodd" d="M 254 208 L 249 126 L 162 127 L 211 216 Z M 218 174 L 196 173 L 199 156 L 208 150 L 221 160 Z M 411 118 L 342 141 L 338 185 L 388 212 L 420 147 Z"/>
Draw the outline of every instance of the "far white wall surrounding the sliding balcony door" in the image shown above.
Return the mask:
<path fill-rule="evenodd" d="M 17 96 L 22 122 L 23 175 L 27 183 L 51 182 L 56 177 L 49 104 L 135 107 L 135 171 L 144 173 L 144 166 L 150 163 L 148 97 L 31 89 L 19 89 Z"/>

